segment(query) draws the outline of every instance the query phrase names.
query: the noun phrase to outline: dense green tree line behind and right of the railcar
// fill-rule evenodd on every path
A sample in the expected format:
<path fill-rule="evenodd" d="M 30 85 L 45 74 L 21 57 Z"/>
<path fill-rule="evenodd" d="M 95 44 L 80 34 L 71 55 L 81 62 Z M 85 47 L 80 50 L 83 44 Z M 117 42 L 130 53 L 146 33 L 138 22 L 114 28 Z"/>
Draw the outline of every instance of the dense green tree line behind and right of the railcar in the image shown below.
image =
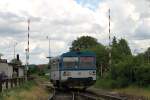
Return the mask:
<path fill-rule="evenodd" d="M 148 86 L 150 83 L 150 48 L 143 53 L 133 55 L 127 40 L 113 37 L 110 49 L 90 36 L 82 36 L 72 42 L 70 51 L 93 51 L 97 59 L 98 80 L 106 79 L 110 87 L 129 85 Z M 111 66 L 109 66 L 109 50 Z"/>

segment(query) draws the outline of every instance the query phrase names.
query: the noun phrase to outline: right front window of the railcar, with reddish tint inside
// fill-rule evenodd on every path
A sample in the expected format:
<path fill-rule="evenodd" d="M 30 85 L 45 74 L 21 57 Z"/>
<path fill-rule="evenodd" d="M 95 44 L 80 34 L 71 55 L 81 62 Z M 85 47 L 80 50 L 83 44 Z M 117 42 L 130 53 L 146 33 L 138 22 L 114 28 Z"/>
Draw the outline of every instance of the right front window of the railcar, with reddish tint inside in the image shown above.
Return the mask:
<path fill-rule="evenodd" d="M 79 67 L 81 68 L 95 67 L 94 57 L 80 57 Z"/>

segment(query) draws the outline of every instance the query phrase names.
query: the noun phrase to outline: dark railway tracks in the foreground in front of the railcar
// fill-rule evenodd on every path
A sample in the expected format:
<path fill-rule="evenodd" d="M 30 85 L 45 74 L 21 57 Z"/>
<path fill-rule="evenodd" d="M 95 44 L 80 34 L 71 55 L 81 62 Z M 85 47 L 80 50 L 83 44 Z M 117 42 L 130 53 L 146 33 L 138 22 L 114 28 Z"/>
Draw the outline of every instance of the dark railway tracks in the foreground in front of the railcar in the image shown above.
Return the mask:
<path fill-rule="evenodd" d="M 75 89 L 54 89 L 49 100 L 127 100 L 125 98 L 106 94 L 96 94 L 91 91 Z"/>

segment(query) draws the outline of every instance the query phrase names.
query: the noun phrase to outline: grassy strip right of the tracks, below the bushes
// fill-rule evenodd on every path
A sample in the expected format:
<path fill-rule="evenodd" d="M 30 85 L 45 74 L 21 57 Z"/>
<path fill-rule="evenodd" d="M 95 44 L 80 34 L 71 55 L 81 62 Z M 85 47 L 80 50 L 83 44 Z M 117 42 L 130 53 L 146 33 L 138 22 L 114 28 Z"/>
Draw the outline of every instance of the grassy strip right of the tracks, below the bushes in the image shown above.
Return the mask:
<path fill-rule="evenodd" d="M 94 87 L 109 91 L 114 91 L 118 93 L 128 94 L 128 95 L 134 95 L 134 96 L 145 96 L 150 97 L 150 86 L 148 87 L 138 87 L 136 85 L 130 85 L 125 88 L 114 88 L 114 82 L 110 79 L 100 79 L 97 80 Z"/>

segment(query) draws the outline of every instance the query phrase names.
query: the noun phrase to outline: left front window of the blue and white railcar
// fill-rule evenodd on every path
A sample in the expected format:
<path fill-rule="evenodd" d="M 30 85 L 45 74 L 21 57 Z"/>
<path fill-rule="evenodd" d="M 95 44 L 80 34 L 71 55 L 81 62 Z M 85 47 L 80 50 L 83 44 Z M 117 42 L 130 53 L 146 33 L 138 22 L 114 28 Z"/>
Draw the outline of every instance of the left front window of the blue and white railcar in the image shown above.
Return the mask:
<path fill-rule="evenodd" d="M 64 68 L 77 68 L 78 67 L 78 57 L 64 57 L 63 58 Z"/>

